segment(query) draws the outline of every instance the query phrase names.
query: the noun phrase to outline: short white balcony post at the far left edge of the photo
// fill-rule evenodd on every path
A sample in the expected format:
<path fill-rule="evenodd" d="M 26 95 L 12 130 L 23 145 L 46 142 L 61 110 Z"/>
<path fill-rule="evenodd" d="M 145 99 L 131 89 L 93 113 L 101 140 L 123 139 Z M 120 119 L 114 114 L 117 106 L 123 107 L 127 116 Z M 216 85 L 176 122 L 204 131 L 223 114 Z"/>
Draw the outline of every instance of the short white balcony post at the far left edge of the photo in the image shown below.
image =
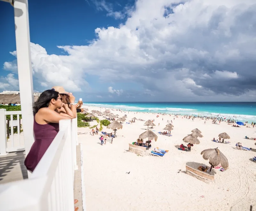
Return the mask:
<path fill-rule="evenodd" d="M 6 155 L 6 109 L 0 109 L 0 156 Z"/>

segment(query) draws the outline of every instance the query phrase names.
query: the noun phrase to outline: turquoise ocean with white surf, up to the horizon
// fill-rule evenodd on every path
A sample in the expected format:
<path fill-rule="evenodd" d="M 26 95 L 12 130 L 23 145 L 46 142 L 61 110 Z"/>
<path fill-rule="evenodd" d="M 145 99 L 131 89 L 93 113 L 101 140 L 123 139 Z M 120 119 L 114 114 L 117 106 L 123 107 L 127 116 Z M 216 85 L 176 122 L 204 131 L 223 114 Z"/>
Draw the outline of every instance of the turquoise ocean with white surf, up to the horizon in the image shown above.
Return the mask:
<path fill-rule="evenodd" d="M 256 102 L 88 102 L 84 105 L 134 112 L 221 116 L 256 122 Z"/>

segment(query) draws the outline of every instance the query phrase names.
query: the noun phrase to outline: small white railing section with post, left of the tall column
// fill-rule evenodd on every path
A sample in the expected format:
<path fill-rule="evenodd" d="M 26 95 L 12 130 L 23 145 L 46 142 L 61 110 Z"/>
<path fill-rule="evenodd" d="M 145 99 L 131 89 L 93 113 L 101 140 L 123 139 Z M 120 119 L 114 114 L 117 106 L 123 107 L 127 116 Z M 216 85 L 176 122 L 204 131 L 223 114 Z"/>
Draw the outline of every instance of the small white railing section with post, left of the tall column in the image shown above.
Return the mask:
<path fill-rule="evenodd" d="M 10 120 L 6 120 L 6 115 L 10 115 Z M 17 120 L 13 120 L 13 115 L 17 115 Z M 25 149 L 23 135 L 20 135 L 20 115 L 21 111 L 0 109 L 0 156 L 6 155 L 7 152 Z M 10 134 L 6 125 L 11 127 Z M 17 127 L 17 135 L 13 132 L 14 127 Z M 7 137 L 7 134 L 9 137 Z"/>

